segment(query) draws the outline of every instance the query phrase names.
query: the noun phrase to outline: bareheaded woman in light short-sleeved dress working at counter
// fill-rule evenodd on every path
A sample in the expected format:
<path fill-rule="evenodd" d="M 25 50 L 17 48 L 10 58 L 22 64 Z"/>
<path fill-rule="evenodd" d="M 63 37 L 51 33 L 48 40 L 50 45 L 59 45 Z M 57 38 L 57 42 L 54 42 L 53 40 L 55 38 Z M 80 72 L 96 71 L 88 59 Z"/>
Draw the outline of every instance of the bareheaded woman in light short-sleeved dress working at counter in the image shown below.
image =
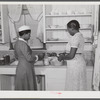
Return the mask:
<path fill-rule="evenodd" d="M 67 30 L 71 35 L 66 51 L 68 54 L 59 55 L 58 60 L 67 62 L 66 91 L 86 90 L 86 63 L 83 58 L 84 38 L 79 32 L 80 24 L 77 20 L 71 20 L 67 24 Z"/>

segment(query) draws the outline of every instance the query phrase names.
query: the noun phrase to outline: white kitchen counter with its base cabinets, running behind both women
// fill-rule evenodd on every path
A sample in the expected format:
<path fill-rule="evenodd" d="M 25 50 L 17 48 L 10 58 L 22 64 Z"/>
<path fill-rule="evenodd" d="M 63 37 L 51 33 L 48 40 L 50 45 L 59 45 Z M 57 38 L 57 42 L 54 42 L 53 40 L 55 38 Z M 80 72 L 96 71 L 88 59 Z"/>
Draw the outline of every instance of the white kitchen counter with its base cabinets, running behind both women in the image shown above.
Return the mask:
<path fill-rule="evenodd" d="M 0 89 L 13 90 L 14 77 L 16 74 L 16 65 L 1 65 L 0 66 Z M 44 66 L 34 65 L 36 75 L 45 77 L 45 90 L 60 90 L 63 91 L 66 80 L 66 66 Z M 60 74 L 61 73 L 61 74 Z M 92 73 L 93 66 L 87 66 L 87 81 L 88 90 L 92 90 Z"/>

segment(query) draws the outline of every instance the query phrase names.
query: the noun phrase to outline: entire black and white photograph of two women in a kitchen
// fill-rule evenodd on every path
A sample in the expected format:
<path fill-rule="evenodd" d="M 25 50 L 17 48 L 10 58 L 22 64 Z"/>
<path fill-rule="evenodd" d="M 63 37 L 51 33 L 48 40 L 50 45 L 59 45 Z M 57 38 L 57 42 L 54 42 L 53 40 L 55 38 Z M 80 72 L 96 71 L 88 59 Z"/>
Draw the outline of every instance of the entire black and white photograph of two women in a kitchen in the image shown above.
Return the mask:
<path fill-rule="evenodd" d="M 0 91 L 100 91 L 100 3 L 0 2 Z"/>

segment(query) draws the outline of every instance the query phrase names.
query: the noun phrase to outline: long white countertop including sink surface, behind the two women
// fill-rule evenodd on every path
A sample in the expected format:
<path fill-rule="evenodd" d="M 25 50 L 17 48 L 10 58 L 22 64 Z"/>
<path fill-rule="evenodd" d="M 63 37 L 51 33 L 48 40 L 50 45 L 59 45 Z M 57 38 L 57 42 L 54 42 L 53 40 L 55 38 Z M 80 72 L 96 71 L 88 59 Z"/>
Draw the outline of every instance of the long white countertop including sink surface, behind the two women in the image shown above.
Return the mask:
<path fill-rule="evenodd" d="M 16 74 L 16 67 L 17 67 L 17 62 L 9 65 L 0 65 L 0 74 L 4 75 L 15 75 Z M 38 62 L 35 63 L 34 65 L 35 72 L 36 74 L 45 74 L 48 70 L 67 70 L 66 65 L 62 66 L 52 66 L 48 65 L 45 66 L 43 65 L 43 62 Z M 93 70 L 93 65 L 87 65 L 87 70 L 92 71 Z"/>

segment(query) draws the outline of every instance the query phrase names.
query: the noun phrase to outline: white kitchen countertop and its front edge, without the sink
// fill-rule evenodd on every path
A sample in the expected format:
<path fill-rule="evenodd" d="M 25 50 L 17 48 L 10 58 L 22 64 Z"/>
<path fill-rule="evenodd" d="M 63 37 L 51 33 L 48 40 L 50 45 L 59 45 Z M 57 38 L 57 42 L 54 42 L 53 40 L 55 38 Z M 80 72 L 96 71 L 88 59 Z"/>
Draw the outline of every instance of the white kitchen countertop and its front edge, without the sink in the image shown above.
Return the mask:
<path fill-rule="evenodd" d="M 15 75 L 16 74 L 16 65 L 0 65 L 0 74 L 6 75 Z M 44 66 L 44 65 L 35 65 L 34 66 L 36 74 L 43 74 L 46 73 L 47 69 L 66 69 L 66 66 Z M 93 70 L 93 66 L 87 66 L 87 70 Z"/>

